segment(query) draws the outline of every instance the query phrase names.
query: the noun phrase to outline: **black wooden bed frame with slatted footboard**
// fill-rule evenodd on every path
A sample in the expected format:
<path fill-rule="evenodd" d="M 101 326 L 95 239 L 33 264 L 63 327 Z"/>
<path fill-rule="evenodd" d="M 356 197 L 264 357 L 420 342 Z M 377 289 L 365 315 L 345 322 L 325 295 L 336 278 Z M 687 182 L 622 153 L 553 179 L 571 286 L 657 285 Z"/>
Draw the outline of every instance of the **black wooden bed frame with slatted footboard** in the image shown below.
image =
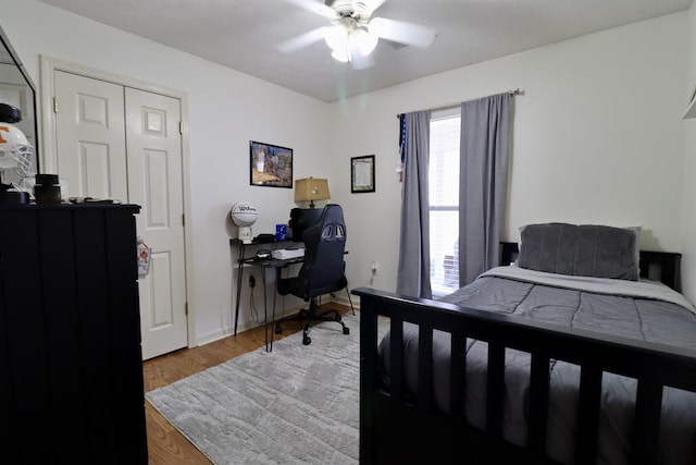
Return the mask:
<path fill-rule="evenodd" d="M 517 244 L 502 244 L 504 259 Z M 506 257 L 506 253 L 508 254 Z M 641 274 L 659 269 L 663 282 L 679 289 L 680 254 L 642 252 Z M 662 387 L 696 392 L 696 351 L 648 343 L 580 329 L 517 319 L 440 302 L 360 287 L 360 463 L 554 463 L 546 457 L 549 362 L 581 366 L 574 463 L 595 462 L 604 371 L 638 380 L 631 463 L 657 461 Z M 390 384 L 377 368 L 377 317 L 390 318 Z M 402 322 L 419 325 L 419 396 L 402 382 Z M 433 330 L 452 334 L 450 413 L 434 407 L 432 378 Z M 486 427 L 464 420 L 465 338 L 488 343 Z M 502 438 L 505 350 L 531 354 L 530 423 L 525 449 Z"/>

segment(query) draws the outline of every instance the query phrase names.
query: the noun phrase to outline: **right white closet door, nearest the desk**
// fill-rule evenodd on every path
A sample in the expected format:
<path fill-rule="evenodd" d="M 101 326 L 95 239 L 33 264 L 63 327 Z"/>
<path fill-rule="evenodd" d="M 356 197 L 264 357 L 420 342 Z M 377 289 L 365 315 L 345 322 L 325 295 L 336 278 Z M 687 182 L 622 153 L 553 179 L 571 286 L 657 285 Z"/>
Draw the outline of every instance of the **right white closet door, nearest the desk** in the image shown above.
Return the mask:
<path fill-rule="evenodd" d="M 181 102 L 126 87 L 128 201 L 142 207 L 138 234 L 152 248 L 140 279 L 145 359 L 187 344 Z"/>

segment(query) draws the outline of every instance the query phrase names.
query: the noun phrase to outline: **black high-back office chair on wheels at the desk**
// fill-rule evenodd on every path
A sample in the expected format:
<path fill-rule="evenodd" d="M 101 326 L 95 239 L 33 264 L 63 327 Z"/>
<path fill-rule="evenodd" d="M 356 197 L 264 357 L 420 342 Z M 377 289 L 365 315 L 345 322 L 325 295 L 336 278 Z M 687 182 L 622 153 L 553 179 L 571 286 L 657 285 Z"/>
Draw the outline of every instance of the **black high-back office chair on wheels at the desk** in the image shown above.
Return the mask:
<path fill-rule="evenodd" d="M 309 330 L 314 321 L 336 321 L 343 327 L 344 334 L 349 334 L 350 329 L 343 322 L 337 310 L 319 313 L 316 305 L 316 297 L 320 295 L 345 289 L 352 308 L 345 273 L 346 223 L 340 205 L 325 206 L 319 221 L 304 230 L 302 241 L 304 242 L 304 261 L 298 276 L 283 279 L 278 268 L 276 282 L 278 294 L 293 294 L 301 297 L 304 302 L 309 302 L 309 308 L 303 308 L 298 315 L 278 321 L 275 326 L 275 333 L 283 332 L 281 323 L 285 321 L 307 320 L 302 332 L 302 344 L 304 345 L 312 342 Z M 352 309 L 352 311 L 355 314 L 356 310 Z"/>

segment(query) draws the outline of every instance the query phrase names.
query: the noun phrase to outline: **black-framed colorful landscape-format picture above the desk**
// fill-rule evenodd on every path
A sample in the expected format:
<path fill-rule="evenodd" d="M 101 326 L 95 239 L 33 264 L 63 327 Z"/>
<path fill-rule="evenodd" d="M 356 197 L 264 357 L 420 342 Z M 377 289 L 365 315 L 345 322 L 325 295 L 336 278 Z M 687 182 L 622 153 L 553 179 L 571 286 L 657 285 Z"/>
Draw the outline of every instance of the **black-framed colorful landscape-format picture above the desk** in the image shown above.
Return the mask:
<path fill-rule="evenodd" d="M 293 149 L 249 142 L 251 185 L 293 188 Z"/>

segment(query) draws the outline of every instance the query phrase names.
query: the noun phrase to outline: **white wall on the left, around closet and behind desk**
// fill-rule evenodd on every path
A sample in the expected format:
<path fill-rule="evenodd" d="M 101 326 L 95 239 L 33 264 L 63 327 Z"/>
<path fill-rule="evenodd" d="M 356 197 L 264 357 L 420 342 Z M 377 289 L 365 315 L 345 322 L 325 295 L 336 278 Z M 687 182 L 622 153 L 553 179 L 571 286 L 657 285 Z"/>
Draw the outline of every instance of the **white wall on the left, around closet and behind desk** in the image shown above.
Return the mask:
<path fill-rule="evenodd" d="M 326 176 L 332 170 L 325 136 L 328 106 L 41 2 L 0 0 L 0 24 L 37 86 L 44 54 L 188 95 L 192 342 L 228 332 L 236 260 L 228 243 L 236 235 L 229 208 L 239 200 L 253 201 L 260 211 L 256 234 L 275 231 L 295 206 L 290 188 L 249 185 L 249 140 L 294 148 L 296 179 Z M 246 291 L 240 327 L 250 320 Z"/>

